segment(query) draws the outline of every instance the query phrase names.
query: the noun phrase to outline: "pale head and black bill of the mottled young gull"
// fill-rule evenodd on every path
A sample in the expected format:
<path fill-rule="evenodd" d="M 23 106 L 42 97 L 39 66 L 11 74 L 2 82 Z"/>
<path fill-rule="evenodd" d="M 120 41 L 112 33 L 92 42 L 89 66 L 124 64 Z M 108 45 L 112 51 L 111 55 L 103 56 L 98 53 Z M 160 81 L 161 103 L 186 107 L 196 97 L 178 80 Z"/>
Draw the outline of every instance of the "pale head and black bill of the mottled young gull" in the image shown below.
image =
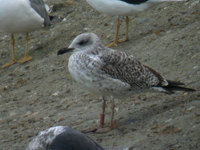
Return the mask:
<path fill-rule="evenodd" d="M 64 54 L 66 52 L 78 52 L 93 50 L 95 47 L 101 45 L 101 41 L 98 36 L 94 33 L 82 33 L 78 35 L 68 48 L 62 48 L 58 51 L 58 55 Z"/>

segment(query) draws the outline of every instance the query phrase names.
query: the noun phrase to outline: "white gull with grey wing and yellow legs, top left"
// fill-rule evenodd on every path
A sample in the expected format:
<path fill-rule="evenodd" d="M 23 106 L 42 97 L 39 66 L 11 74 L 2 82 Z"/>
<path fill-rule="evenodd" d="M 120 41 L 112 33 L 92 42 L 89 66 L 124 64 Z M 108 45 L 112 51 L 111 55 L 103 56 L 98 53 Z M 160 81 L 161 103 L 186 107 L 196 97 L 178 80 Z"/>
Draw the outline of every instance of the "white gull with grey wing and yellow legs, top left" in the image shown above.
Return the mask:
<path fill-rule="evenodd" d="M 12 40 L 12 60 L 2 68 L 17 62 L 14 33 L 26 33 L 26 50 L 24 57 L 18 61 L 24 63 L 32 59 L 28 55 L 29 32 L 49 24 L 43 0 L 0 0 L 0 31 L 11 33 Z"/>

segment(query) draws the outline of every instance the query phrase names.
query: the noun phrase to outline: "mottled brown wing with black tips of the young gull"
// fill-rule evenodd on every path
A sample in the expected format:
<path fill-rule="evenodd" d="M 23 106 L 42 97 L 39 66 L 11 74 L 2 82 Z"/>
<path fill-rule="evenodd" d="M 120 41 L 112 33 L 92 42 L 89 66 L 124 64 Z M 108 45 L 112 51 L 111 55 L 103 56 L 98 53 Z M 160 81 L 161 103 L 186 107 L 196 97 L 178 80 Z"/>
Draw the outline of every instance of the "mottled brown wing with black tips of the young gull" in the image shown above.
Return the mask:
<path fill-rule="evenodd" d="M 165 80 L 154 69 L 142 65 L 134 56 L 124 52 L 105 50 L 99 54 L 101 71 L 107 76 L 129 84 L 133 89 L 153 88 L 166 93 L 174 91 L 193 92 L 194 89 L 182 87 L 181 82 Z"/>

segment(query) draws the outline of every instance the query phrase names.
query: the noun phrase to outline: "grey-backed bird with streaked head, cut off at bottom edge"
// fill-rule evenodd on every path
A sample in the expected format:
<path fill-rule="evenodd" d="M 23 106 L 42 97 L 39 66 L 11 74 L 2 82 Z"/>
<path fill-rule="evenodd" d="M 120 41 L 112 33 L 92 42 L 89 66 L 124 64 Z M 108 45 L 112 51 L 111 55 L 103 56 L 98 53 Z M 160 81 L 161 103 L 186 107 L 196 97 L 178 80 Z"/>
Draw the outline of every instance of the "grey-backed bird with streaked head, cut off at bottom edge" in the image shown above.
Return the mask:
<path fill-rule="evenodd" d="M 26 150 L 104 150 L 87 135 L 68 126 L 56 126 L 41 131 Z"/>

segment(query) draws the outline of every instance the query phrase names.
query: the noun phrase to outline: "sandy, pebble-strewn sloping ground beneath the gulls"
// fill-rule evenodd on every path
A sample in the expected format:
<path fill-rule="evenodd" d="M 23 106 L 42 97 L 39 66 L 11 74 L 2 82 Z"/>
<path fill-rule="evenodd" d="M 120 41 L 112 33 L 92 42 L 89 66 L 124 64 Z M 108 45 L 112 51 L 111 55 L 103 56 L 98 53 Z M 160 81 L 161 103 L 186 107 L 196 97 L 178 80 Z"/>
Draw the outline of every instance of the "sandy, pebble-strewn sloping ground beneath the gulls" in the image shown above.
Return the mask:
<path fill-rule="evenodd" d="M 70 54 L 57 56 L 75 36 L 94 32 L 104 44 L 114 35 L 115 17 L 84 0 L 47 0 L 54 19 L 32 32 L 33 60 L 0 69 L 0 149 L 22 150 L 39 131 L 56 125 L 83 130 L 98 125 L 101 99 L 85 91 L 67 69 Z M 120 37 L 124 34 L 122 25 Z M 115 129 L 88 134 L 107 150 L 200 149 L 200 2 L 163 3 L 131 17 L 130 40 L 115 49 L 135 55 L 166 78 L 195 88 L 193 93 L 142 93 L 116 100 Z M 25 36 L 16 35 L 17 58 Z M 10 35 L 0 33 L 0 66 L 10 59 Z M 110 117 L 110 103 L 106 110 Z"/>

